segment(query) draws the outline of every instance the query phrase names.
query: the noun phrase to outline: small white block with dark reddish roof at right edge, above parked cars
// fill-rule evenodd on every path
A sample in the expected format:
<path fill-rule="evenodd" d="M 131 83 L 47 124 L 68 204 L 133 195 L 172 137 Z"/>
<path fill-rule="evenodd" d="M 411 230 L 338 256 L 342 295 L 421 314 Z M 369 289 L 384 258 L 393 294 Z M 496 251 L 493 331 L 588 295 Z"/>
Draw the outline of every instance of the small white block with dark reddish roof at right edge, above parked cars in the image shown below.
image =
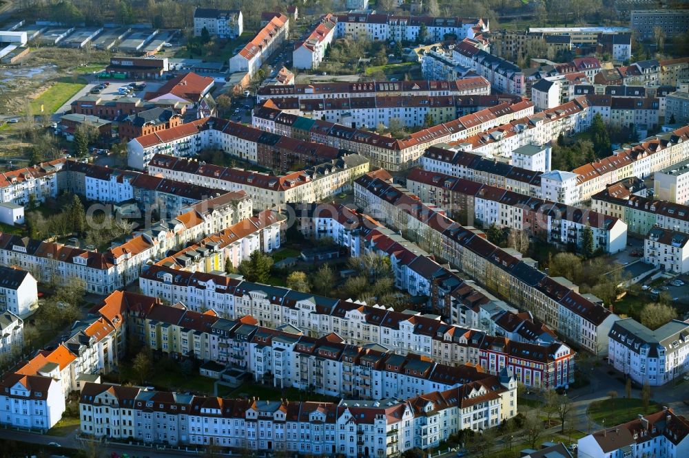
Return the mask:
<path fill-rule="evenodd" d="M 644 261 L 674 274 L 689 272 L 689 235 L 652 228 L 644 239 Z"/>

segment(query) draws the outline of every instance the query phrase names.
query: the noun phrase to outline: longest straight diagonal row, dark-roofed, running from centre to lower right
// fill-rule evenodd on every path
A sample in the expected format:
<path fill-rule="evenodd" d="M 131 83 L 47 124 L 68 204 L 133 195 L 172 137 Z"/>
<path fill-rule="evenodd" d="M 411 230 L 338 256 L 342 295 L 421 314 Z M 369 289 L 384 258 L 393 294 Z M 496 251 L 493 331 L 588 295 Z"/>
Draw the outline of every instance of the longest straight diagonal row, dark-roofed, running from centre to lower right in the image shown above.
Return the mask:
<path fill-rule="evenodd" d="M 395 229 L 407 230 L 422 248 L 448 260 L 497 297 L 532 312 L 535 318 L 587 351 L 606 353 L 608 342 L 604 333 L 617 316 L 605 307 L 566 287 L 556 287 L 546 274 L 422 204 L 407 190 L 364 175 L 356 180 L 354 195 L 358 205 L 376 208 L 384 217 L 382 221 Z"/>

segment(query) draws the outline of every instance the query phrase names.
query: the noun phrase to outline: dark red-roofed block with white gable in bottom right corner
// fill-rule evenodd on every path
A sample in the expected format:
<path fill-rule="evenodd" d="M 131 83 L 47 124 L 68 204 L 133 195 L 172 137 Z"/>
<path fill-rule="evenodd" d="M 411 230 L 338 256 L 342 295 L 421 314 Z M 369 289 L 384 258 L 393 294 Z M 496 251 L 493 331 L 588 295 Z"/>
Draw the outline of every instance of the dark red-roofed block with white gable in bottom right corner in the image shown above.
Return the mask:
<path fill-rule="evenodd" d="M 587 458 L 680 458 L 689 453 L 688 436 L 689 420 L 663 408 L 582 437 L 577 441 L 577 454 Z"/>

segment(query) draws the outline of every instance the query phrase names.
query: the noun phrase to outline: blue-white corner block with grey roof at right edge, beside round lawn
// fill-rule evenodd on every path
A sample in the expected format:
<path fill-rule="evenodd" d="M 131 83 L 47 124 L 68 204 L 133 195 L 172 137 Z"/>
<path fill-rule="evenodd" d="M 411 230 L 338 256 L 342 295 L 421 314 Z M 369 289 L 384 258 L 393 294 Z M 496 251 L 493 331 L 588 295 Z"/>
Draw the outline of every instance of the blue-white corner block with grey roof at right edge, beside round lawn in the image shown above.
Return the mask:
<path fill-rule="evenodd" d="M 639 384 L 661 386 L 689 372 L 689 324 L 651 331 L 634 318 L 617 320 L 609 334 L 608 363 Z"/>

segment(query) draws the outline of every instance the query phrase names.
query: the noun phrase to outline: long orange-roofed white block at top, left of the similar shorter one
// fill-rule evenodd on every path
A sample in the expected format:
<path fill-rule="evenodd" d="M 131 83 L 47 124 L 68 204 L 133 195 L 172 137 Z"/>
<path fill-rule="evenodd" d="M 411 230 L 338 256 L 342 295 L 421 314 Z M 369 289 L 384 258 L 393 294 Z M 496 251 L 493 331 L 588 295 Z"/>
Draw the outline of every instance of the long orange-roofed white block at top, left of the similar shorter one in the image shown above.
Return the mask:
<path fill-rule="evenodd" d="M 272 16 L 258 34 L 229 59 L 229 72 L 245 72 L 252 76 L 287 39 L 289 18 L 279 13 Z"/>

